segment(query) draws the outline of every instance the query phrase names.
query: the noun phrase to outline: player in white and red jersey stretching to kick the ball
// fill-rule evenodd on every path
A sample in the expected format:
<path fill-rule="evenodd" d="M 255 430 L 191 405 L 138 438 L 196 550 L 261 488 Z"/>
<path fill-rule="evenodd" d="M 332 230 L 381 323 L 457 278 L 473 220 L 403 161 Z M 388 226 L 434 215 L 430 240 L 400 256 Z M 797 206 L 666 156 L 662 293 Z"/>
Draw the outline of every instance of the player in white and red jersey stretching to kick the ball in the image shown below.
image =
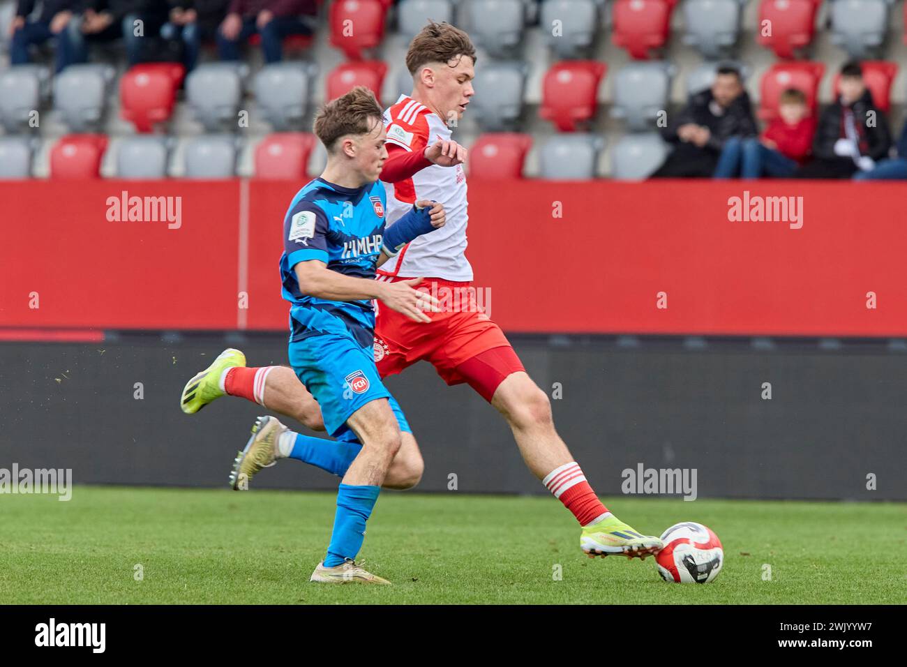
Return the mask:
<path fill-rule="evenodd" d="M 379 271 L 378 280 L 424 278 L 417 289 L 452 290 L 447 293 L 466 292 L 462 288 L 472 283 L 473 270 L 463 254 L 468 219 L 463 173 L 466 151 L 453 142 L 451 125 L 463 116 L 473 96 L 474 64 L 475 49 L 469 36 L 446 23 L 429 23 L 409 46 L 406 65 L 413 74 L 413 94 L 401 95 L 385 111 L 388 159 L 380 177 L 387 189 L 385 215 L 392 224 L 416 200 L 434 200 L 444 204 L 447 223 L 399 249 Z M 453 292 L 457 288 L 461 288 L 459 292 Z M 474 296 L 474 290 L 469 293 Z M 625 554 L 640 558 L 656 553 L 662 546 L 658 537 L 639 534 L 601 504 L 554 428 L 548 396 L 526 373 L 502 330 L 473 301 L 426 314 L 430 322 L 378 309 L 375 362 L 380 375 L 394 375 L 425 360 L 448 385 L 469 384 L 507 420 L 526 465 L 576 517 L 582 526 L 583 552 L 590 557 Z M 245 368 L 241 353 L 228 350 L 192 382 L 204 374 L 216 376 L 217 382 L 206 383 L 213 388 L 201 397 L 201 406 L 225 394 L 245 397 L 314 430 L 324 430 L 317 402 L 290 368 Z M 195 403 L 199 404 L 199 397 Z M 184 405 L 183 409 L 196 408 Z M 348 443 L 295 434 L 275 417 L 259 424 L 263 426 L 240 453 L 240 458 L 249 455 L 253 459 L 243 467 L 249 476 L 284 457 L 342 475 L 336 470 L 336 456 L 326 457 L 325 450 Z M 391 488 L 410 488 L 422 476 L 424 464 L 414 436 L 408 432 L 403 436 L 385 477 L 385 486 Z"/>

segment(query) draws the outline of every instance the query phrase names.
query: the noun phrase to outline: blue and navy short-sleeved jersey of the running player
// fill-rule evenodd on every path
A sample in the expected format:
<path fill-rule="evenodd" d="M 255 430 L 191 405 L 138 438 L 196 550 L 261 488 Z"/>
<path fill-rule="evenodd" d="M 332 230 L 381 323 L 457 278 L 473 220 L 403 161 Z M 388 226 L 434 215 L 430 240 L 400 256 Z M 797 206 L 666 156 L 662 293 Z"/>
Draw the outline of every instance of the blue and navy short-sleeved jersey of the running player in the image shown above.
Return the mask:
<path fill-rule="evenodd" d="M 375 336 L 371 299 L 331 301 L 302 293 L 294 265 L 321 260 L 327 269 L 355 278 L 375 278 L 385 231 L 385 186 L 381 181 L 344 188 L 317 178 L 290 202 L 280 257 L 283 298 L 290 307 L 290 341 L 325 333 L 351 335 L 362 348 Z"/>

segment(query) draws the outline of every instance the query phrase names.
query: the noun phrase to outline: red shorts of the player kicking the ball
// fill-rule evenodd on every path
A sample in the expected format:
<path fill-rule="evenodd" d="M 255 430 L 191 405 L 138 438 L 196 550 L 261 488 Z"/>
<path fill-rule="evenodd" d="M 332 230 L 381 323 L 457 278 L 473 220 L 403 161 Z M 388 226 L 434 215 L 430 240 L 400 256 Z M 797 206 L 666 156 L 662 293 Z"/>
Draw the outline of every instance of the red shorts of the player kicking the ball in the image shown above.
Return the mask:
<path fill-rule="evenodd" d="M 385 276 L 378 280 L 407 279 Z M 470 282 L 428 278 L 416 289 L 434 294 L 442 302 L 442 310 L 426 312 L 431 322 L 415 322 L 377 303 L 378 373 L 386 378 L 425 360 L 448 385 L 466 382 L 490 402 L 503 379 L 523 367 L 501 328 L 483 312 L 485 302 L 476 299 Z"/>

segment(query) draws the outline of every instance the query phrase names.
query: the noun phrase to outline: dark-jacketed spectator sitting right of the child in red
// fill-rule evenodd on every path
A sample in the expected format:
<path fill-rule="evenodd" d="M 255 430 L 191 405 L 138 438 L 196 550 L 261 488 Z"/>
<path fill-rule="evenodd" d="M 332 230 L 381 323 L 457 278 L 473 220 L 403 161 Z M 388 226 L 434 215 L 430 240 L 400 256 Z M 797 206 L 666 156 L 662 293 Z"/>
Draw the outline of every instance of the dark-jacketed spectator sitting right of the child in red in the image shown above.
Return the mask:
<path fill-rule="evenodd" d="M 819 118 L 813 160 L 796 172 L 798 178 L 845 179 L 868 172 L 888 154 L 892 137 L 884 114 L 873 105 L 863 83 L 863 68 L 851 62 L 841 68 L 841 95 Z"/>

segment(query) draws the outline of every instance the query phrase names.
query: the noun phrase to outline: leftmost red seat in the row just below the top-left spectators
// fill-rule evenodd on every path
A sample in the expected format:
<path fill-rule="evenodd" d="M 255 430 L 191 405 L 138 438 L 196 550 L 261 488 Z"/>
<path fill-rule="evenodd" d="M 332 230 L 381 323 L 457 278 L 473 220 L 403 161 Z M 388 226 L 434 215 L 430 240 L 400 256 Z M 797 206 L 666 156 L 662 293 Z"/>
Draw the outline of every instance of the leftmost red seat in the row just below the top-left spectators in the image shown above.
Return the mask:
<path fill-rule="evenodd" d="M 120 115 L 137 132 L 151 132 L 154 123 L 171 117 L 176 92 L 186 73 L 181 64 L 146 63 L 131 67 L 120 80 Z"/>

